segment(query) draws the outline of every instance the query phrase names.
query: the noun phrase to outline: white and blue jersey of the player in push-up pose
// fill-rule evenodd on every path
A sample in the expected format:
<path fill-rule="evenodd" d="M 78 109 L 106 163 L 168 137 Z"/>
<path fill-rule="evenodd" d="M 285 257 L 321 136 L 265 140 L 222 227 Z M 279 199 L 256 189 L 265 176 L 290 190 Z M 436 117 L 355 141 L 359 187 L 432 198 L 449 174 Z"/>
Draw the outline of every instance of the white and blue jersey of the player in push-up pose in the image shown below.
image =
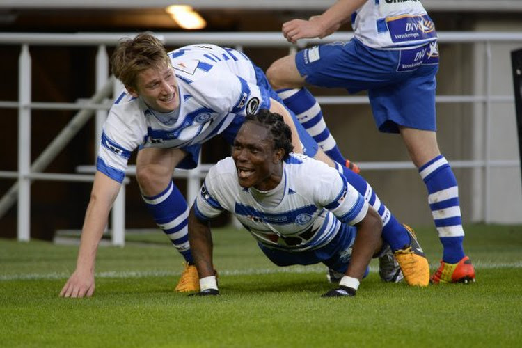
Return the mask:
<path fill-rule="evenodd" d="M 264 193 L 254 190 L 239 186 L 234 160 L 227 157 L 210 169 L 194 210 L 207 220 L 227 210 L 263 245 L 304 251 L 328 244 L 341 223 L 358 223 L 368 209 L 338 171 L 300 154 L 284 161 L 278 187 Z"/>

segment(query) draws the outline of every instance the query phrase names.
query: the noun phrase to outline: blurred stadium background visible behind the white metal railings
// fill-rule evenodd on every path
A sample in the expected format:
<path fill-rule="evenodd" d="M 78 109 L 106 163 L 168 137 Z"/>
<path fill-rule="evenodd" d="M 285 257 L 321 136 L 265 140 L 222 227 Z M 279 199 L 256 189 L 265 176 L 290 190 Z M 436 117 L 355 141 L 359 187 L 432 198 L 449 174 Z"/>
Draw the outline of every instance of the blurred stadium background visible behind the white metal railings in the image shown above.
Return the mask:
<path fill-rule="evenodd" d="M 42 4 L 45 2 L 45 4 Z M 279 31 L 287 19 L 320 13 L 333 1 L 185 1 L 207 20 L 204 32 Z M 438 31 L 514 31 L 522 29 L 522 1 L 423 1 Z M 36 4 L 36 5 L 35 5 Z M 0 31 L 4 33 L 76 33 L 139 31 L 182 32 L 163 7 L 168 1 L 1 1 Z M 343 31 L 351 30 L 344 26 Z M 194 42 L 196 43 L 196 42 Z M 512 95 L 509 51 L 522 42 L 493 46 L 493 95 Z M 175 47 L 168 47 L 174 49 Z M 108 47 L 109 54 L 113 47 Z M 484 47 L 473 44 L 441 45 L 438 95 L 484 94 Z M 17 100 L 19 45 L 0 45 L 0 100 Z M 261 68 L 287 54 L 286 48 L 253 48 L 244 52 Z M 32 46 L 32 100 L 74 102 L 95 92 L 96 47 Z M 316 95 L 344 95 L 342 90 L 312 89 Z M 450 161 L 484 159 L 482 103 L 438 104 L 438 141 Z M 35 159 L 74 115 L 74 111 L 32 111 L 31 157 Z M 324 106 L 326 122 L 343 152 L 356 162 L 408 161 L 399 136 L 379 134 L 369 105 Z M 518 159 L 513 102 L 491 104 L 491 159 Z M 17 110 L 1 109 L 2 146 L 0 171 L 17 170 Z M 47 168 L 49 173 L 74 173 L 95 158 L 94 122 L 91 120 Z M 214 162 L 229 153 L 221 139 L 204 146 L 203 162 Z M 133 159 L 132 159 L 133 161 Z M 363 168 L 364 170 L 364 168 Z M 465 222 L 484 221 L 484 170 L 455 169 Z M 432 223 L 424 184 L 413 169 L 364 171 L 390 209 L 413 225 Z M 520 168 L 495 168 L 490 177 L 491 211 L 487 222 L 521 223 Z M 179 186 L 184 187 L 182 180 Z M 0 180 L 0 195 L 14 180 Z M 52 239 L 60 229 L 79 229 L 88 203 L 90 183 L 33 182 L 31 186 L 31 237 Z M 127 185 L 127 228 L 155 228 L 137 184 Z M 0 237 L 15 237 L 16 207 L 0 217 Z M 221 221 L 226 223 L 226 221 Z"/>

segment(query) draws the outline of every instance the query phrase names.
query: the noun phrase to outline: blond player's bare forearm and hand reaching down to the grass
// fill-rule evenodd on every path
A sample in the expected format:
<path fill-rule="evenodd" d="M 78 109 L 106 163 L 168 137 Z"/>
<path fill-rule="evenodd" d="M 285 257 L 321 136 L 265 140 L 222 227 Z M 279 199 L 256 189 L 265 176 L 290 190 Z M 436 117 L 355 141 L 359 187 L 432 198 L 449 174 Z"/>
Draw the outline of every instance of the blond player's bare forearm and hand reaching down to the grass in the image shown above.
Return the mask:
<path fill-rule="evenodd" d="M 119 182 L 99 171 L 96 172 L 84 226 L 81 229 L 76 269 L 63 286 L 60 296 L 93 296 L 96 252 L 107 224 L 111 206 L 118 196 L 119 190 Z"/>

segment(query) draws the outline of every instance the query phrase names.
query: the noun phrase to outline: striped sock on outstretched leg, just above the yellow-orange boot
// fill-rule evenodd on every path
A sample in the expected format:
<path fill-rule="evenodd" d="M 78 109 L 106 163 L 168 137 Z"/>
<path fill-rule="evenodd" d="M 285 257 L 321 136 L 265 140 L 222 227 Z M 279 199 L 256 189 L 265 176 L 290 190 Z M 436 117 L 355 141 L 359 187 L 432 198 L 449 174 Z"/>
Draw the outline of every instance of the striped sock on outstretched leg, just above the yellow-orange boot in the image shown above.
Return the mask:
<path fill-rule="evenodd" d="M 406 228 L 402 223 L 395 219 L 395 216 L 388 210 L 386 205 L 381 202 L 377 194 L 373 191 L 370 184 L 366 182 L 364 177 L 354 173 L 349 168 L 336 163 L 339 173 L 346 177 L 347 182 L 353 186 L 367 202 L 374 207 L 382 219 L 382 238 L 390 244 L 392 251 L 397 251 L 410 244 L 410 237 Z"/>

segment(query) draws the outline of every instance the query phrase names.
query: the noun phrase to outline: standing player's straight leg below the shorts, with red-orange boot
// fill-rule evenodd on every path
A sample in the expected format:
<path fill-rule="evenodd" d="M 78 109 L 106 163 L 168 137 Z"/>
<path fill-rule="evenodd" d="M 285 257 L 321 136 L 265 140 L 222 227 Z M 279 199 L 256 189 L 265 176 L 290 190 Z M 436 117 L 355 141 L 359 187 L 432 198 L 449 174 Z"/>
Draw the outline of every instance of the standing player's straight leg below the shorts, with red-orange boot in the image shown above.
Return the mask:
<path fill-rule="evenodd" d="M 402 139 L 428 191 L 429 209 L 443 245 L 441 267 L 432 276 L 434 283 L 475 280 L 475 270 L 464 253 L 457 179 L 448 161 L 438 150 L 435 132 L 401 127 Z"/>

